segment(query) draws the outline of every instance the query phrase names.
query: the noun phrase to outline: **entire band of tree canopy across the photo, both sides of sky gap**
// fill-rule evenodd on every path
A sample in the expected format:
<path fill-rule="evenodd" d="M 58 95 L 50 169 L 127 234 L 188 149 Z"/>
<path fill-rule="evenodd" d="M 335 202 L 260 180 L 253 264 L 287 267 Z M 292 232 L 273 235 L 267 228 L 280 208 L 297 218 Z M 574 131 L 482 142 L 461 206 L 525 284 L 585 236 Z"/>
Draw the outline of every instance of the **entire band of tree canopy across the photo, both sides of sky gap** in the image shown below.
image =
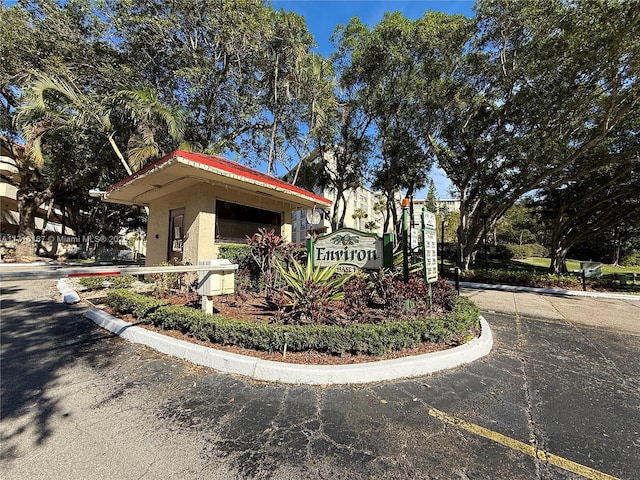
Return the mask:
<path fill-rule="evenodd" d="M 398 192 L 428 186 L 438 165 L 460 197 L 463 268 L 526 195 L 550 222 L 558 271 L 576 242 L 637 219 L 637 0 L 356 17 L 330 59 L 304 18 L 259 0 L 22 0 L 0 13 L 0 129 L 26 143 L 25 208 L 180 145 L 295 180 L 316 158 L 334 228 L 365 184 L 392 229 Z M 621 205 L 626 216 L 605 214 Z"/>

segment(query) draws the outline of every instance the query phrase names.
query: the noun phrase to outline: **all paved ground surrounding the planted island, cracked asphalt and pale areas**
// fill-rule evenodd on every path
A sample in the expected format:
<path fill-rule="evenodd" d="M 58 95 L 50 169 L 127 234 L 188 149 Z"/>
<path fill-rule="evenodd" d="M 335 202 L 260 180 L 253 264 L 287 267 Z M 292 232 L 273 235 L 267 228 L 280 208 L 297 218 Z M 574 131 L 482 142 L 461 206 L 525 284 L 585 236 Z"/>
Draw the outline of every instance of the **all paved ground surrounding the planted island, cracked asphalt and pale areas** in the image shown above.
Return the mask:
<path fill-rule="evenodd" d="M 634 479 L 640 302 L 469 290 L 491 353 L 410 380 L 255 382 L 3 284 L 3 479 Z"/>

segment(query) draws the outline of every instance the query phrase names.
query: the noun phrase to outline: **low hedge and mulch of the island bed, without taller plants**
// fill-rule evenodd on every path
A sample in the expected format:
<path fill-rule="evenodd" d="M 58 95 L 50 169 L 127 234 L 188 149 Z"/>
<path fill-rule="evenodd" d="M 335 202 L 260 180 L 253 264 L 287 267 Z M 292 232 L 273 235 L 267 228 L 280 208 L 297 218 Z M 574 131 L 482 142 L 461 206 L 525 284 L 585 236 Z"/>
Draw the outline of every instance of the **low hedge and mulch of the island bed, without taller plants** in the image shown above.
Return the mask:
<path fill-rule="evenodd" d="M 347 319 L 344 303 L 332 302 L 334 320 L 322 325 L 283 324 L 278 321 L 278 312 L 258 295 L 214 298 L 214 315 L 199 310 L 193 296 L 155 299 L 116 289 L 107 293 L 105 303 L 111 313 L 172 337 L 303 364 L 349 364 L 420 355 L 465 343 L 480 331 L 479 310 L 463 297 L 455 297 L 445 314 L 398 321 L 385 320 L 381 308 L 368 307 L 371 316 L 365 323 Z"/>

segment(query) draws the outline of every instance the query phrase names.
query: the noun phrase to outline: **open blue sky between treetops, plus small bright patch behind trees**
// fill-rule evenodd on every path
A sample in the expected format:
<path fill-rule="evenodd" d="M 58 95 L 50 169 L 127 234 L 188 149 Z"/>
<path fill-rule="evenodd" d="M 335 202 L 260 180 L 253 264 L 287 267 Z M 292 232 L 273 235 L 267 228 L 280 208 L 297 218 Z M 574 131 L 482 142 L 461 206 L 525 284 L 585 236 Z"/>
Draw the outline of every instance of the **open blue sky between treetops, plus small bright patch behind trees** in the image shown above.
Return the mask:
<path fill-rule="evenodd" d="M 295 12 L 307 21 L 309 31 L 313 33 L 317 51 L 328 55 L 333 51 L 329 40 L 336 26 L 346 25 L 358 16 L 367 26 L 376 25 L 385 12 L 399 11 L 412 20 L 421 17 L 427 10 L 449 14 L 461 13 L 473 16 L 474 2 L 470 0 L 272 0 L 273 8 Z M 451 197 L 450 182 L 444 172 L 438 168 L 431 171 L 439 198 Z M 417 198 L 426 197 L 426 190 L 417 193 Z"/>

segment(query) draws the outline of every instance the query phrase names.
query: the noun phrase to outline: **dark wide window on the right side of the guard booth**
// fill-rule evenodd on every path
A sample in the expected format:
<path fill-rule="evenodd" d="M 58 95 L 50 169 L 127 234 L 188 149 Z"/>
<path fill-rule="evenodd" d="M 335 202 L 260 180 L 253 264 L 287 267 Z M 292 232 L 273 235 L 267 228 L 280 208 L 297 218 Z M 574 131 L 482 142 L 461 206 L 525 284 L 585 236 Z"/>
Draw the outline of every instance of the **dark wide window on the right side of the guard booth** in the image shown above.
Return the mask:
<path fill-rule="evenodd" d="M 258 228 L 280 233 L 282 213 L 216 200 L 216 242 L 247 243 Z"/>

